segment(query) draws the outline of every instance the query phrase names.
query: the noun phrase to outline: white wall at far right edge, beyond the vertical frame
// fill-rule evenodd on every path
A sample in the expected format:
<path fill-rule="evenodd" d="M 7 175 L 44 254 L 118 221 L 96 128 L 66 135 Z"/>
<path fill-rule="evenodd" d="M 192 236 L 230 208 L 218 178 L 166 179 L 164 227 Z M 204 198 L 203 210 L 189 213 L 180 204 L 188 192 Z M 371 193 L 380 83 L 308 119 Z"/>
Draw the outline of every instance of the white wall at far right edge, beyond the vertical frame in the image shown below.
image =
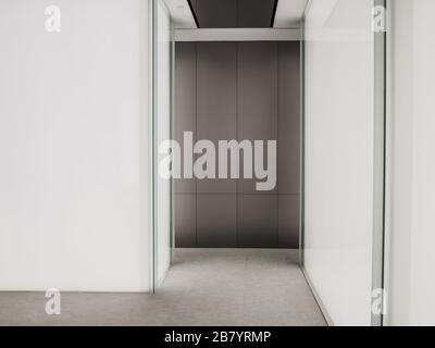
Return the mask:
<path fill-rule="evenodd" d="M 389 315 L 435 324 L 435 23 L 433 0 L 395 0 Z"/>

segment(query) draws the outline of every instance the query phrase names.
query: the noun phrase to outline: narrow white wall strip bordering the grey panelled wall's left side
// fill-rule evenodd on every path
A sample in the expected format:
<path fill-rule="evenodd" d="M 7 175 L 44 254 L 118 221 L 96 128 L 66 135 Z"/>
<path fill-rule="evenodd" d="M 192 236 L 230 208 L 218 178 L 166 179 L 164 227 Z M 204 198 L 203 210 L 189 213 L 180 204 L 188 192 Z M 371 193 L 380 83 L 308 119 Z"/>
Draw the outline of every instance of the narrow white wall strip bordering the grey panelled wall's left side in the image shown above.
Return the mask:
<path fill-rule="evenodd" d="M 171 21 L 166 5 L 158 1 L 158 141 L 171 139 Z M 158 284 L 167 273 L 171 262 L 171 182 L 158 178 Z"/>

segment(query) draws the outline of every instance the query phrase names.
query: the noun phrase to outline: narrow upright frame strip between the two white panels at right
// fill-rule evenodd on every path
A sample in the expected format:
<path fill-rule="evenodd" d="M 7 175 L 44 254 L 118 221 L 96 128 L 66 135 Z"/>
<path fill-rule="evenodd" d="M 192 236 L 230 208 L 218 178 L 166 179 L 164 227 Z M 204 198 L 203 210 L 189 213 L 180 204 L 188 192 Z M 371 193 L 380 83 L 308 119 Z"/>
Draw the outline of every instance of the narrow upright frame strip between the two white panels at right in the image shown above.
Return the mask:
<path fill-rule="evenodd" d="M 386 0 L 374 0 L 374 7 L 383 7 Z M 386 18 L 385 18 L 386 20 Z M 386 33 L 374 35 L 374 172 L 373 172 L 373 254 L 372 254 L 372 290 L 380 290 L 381 308 L 384 308 L 384 268 L 385 268 L 385 208 L 386 208 Z M 375 293 L 372 293 L 372 295 Z M 372 298 L 373 300 L 373 298 Z M 384 324 L 384 314 L 373 313 L 372 326 Z"/>

